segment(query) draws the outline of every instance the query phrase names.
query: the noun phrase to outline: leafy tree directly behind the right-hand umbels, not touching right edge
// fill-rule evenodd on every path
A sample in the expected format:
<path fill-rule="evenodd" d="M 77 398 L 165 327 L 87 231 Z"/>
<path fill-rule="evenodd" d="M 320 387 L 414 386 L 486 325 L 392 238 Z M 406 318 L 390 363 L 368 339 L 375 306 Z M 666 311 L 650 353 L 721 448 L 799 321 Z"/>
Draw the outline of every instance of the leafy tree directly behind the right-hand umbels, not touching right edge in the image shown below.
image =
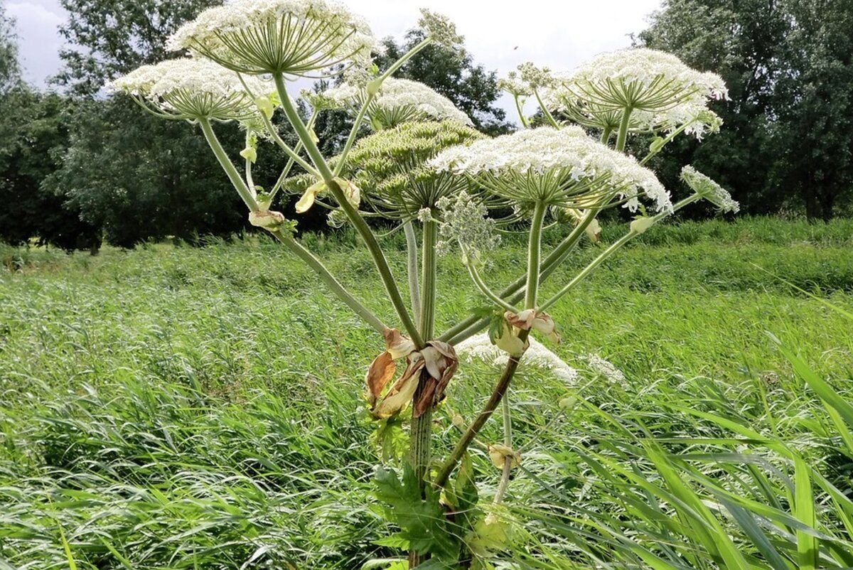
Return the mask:
<path fill-rule="evenodd" d="M 719 73 L 729 90 L 728 101 L 712 105 L 722 131 L 700 145 L 681 137 L 660 155 L 655 166 L 668 187 L 677 185 L 679 165 L 692 163 L 731 189 L 746 211 L 779 209 L 784 196 L 766 181 L 773 163 L 769 114 L 786 28 L 778 0 L 664 0 L 653 13 L 639 43 Z"/>

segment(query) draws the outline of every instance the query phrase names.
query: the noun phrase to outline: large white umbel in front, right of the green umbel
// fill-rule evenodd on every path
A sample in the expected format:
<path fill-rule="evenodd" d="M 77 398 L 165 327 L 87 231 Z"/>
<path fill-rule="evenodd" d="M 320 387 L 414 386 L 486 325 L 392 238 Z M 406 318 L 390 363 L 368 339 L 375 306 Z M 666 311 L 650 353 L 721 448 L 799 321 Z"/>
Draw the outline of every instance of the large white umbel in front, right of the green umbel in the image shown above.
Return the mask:
<path fill-rule="evenodd" d="M 473 177 L 490 192 L 521 203 L 573 208 L 624 203 L 634 211 L 645 195 L 658 210 L 672 207 L 652 171 L 577 126 L 526 129 L 449 148 L 430 165 Z"/>

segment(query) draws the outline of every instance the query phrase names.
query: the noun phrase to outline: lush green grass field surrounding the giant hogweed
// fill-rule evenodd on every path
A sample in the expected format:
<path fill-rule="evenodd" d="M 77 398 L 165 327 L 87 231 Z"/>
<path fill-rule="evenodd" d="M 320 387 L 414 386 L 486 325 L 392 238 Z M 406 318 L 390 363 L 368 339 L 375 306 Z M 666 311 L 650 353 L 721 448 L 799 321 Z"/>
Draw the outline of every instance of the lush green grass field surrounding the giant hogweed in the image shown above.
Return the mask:
<path fill-rule="evenodd" d="M 815 567 L 844 567 L 850 418 L 804 375 L 842 402 L 853 393 L 853 221 L 654 230 L 552 311 L 564 339 L 552 348 L 577 383 L 530 369 L 514 385 L 518 524 L 513 553 L 487 558 L 786 568 L 819 552 Z M 351 236 L 305 242 L 393 322 Z M 402 241 L 387 245 L 402 276 Z M 490 280 L 514 279 L 520 256 L 508 239 Z M 5 248 L 0 261 L 0 568 L 358 568 L 396 554 L 375 544 L 388 529 L 361 398 L 381 339 L 275 243 Z M 438 295 L 439 331 L 483 304 L 455 259 Z M 449 410 L 470 418 L 494 379 L 490 364 L 463 365 L 439 445 L 453 441 Z M 497 423 L 482 439 L 500 439 Z M 493 492 L 499 473 L 473 455 Z M 703 538 L 711 519 L 731 549 Z"/>

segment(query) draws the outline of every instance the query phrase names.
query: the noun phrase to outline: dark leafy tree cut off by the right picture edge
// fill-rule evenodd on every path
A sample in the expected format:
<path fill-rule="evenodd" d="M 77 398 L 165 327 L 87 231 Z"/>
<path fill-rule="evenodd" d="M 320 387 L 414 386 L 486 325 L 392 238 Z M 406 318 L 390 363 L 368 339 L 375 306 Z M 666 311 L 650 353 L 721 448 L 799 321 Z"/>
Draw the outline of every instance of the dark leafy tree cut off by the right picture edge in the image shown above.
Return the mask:
<path fill-rule="evenodd" d="M 786 0 L 772 180 L 828 220 L 853 195 L 853 0 Z"/>

